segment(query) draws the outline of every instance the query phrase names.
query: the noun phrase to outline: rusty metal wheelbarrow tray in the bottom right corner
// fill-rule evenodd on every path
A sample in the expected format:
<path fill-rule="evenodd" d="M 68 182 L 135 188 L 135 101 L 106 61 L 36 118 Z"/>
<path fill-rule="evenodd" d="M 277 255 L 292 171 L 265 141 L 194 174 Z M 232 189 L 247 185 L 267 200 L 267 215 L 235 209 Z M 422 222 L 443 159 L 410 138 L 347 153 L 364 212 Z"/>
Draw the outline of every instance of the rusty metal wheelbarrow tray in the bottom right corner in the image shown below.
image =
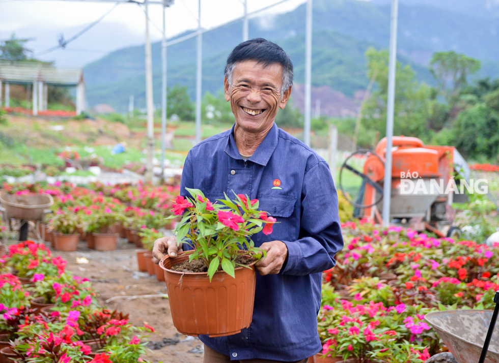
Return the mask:
<path fill-rule="evenodd" d="M 499 363 L 499 329 L 494 327 L 499 313 L 499 291 L 492 310 L 449 310 L 426 314 L 458 363 Z M 490 349 L 489 349 L 490 346 Z"/>

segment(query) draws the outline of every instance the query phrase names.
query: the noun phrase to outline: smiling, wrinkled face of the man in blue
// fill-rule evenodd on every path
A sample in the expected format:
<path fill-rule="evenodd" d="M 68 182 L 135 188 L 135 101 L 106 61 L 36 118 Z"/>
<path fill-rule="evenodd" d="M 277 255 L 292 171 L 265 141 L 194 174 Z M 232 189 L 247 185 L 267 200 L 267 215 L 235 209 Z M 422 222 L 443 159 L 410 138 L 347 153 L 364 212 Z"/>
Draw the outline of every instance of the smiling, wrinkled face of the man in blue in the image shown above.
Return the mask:
<path fill-rule="evenodd" d="M 268 131 L 279 108 L 283 109 L 291 95 L 291 87 L 281 96 L 283 67 L 274 63 L 267 67 L 256 61 L 236 63 L 232 86 L 224 80 L 225 99 L 231 102 L 236 127 L 245 132 Z"/>

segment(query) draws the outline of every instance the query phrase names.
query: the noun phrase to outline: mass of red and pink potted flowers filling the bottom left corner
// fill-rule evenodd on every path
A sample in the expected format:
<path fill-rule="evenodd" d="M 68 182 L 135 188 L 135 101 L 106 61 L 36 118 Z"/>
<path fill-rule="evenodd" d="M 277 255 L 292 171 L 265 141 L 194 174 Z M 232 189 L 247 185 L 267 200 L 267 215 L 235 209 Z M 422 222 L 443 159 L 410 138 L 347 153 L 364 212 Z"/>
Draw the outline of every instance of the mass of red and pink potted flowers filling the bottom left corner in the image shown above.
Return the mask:
<path fill-rule="evenodd" d="M 0 256 L 0 357 L 30 363 L 145 361 L 150 326 L 100 307 L 87 279 L 26 241 Z"/>

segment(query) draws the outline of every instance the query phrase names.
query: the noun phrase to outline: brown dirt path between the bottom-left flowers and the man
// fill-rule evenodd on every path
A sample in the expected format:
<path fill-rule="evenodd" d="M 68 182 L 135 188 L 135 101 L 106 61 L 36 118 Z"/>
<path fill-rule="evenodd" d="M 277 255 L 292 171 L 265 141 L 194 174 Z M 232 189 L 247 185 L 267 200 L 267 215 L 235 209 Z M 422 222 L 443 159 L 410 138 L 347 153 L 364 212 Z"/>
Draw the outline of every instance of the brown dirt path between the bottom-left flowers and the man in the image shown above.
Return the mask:
<path fill-rule="evenodd" d="M 201 362 L 203 354 L 200 349 L 202 349 L 203 344 L 197 338 L 178 334 L 177 329 L 173 326 L 168 299 L 153 297 L 127 301 L 125 298 L 120 298 L 105 302 L 116 296 L 167 293 L 164 282 L 157 281 L 156 277 L 150 277 L 147 273 L 138 272 L 135 247 L 121 238 L 118 244 L 116 251 L 99 252 L 88 249 L 86 243 L 80 241 L 76 252 L 52 252 L 68 261 L 66 269 L 75 276 L 92 281 L 93 287 L 99 293 L 98 300 L 101 305 L 130 314 L 130 321 L 135 325 L 141 326 L 147 323 L 154 327 L 156 332 L 151 334 L 149 340 L 158 342 L 162 341 L 163 338 L 176 338 L 179 341 L 177 344 L 150 351 L 147 359 L 153 363 L 160 361 L 163 363 Z M 89 263 L 78 264 L 76 263 L 77 257 L 85 257 Z"/>

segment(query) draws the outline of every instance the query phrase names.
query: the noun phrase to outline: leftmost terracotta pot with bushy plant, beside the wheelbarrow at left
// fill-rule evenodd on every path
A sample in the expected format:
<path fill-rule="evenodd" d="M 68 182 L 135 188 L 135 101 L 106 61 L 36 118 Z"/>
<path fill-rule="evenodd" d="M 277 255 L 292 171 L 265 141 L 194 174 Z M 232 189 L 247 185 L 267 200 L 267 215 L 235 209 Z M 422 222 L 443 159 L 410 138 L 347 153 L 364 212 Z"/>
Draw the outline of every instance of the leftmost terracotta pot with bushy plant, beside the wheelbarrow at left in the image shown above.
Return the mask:
<path fill-rule="evenodd" d="M 58 251 L 76 251 L 79 240 L 78 229 L 82 228 L 81 215 L 69 209 L 59 209 L 49 222 L 54 248 Z"/>

